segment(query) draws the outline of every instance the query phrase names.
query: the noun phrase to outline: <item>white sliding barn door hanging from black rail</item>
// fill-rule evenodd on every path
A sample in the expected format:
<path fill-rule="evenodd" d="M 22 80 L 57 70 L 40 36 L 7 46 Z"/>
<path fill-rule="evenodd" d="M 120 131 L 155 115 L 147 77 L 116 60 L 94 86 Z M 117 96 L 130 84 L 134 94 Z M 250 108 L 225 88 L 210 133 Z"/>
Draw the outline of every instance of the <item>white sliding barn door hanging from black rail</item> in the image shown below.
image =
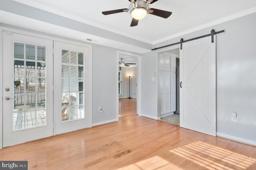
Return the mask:
<path fill-rule="evenodd" d="M 216 37 L 180 50 L 180 127 L 216 136 Z"/>

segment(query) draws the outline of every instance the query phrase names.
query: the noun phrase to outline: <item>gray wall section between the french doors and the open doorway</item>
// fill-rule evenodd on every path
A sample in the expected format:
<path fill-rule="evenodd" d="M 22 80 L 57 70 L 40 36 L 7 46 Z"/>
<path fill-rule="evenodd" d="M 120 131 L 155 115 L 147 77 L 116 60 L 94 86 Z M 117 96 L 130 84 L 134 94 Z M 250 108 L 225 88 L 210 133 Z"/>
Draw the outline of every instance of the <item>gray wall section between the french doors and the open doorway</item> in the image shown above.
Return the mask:
<path fill-rule="evenodd" d="M 117 119 L 116 56 L 117 49 L 92 46 L 92 124 Z"/>

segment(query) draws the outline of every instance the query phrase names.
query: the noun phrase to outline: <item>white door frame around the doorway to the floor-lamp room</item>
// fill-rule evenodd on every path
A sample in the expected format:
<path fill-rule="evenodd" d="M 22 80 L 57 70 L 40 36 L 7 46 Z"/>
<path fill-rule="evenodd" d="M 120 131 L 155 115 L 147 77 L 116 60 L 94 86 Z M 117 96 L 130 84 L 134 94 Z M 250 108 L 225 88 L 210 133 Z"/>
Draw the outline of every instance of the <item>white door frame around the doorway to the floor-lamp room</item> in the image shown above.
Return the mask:
<path fill-rule="evenodd" d="M 123 51 L 117 51 L 116 55 L 116 119 L 119 121 L 119 92 L 118 92 L 118 72 L 119 72 L 119 55 L 129 55 L 137 58 L 137 114 L 142 115 L 142 55 L 136 55 L 133 53 L 127 53 Z"/>

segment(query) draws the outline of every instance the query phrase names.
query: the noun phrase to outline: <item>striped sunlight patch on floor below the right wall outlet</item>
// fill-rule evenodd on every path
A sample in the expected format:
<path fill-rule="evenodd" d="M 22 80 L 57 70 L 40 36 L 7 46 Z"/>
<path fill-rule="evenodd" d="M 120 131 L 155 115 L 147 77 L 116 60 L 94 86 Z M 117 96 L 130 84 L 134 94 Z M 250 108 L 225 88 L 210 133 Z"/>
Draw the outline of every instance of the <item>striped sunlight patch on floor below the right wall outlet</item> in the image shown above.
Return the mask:
<path fill-rule="evenodd" d="M 248 169 L 256 163 L 254 158 L 200 141 L 170 150 L 170 152 L 209 170 Z"/>

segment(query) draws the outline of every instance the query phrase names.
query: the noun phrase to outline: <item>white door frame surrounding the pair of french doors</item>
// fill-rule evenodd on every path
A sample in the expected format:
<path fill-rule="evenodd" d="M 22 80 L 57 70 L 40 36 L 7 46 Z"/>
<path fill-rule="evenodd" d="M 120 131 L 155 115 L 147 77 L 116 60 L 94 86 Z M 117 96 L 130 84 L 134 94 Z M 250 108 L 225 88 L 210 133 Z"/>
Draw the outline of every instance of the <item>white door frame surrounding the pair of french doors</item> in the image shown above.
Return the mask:
<path fill-rule="evenodd" d="M 0 26 L 0 98 L 2 99 L 2 101 L 0 102 L 0 149 L 3 148 L 3 84 L 2 84 L 2 80 L 3 80 L 3 31 L 7 31 L 7 32 L 13 32 L 13 33 L 17 33 L 17 34 L 22 34 L 22 35 L 28 35 L 28 36 L 31 36 L 31 37 L 38 37 L 38 38 L 43 38 L 43 39 L 48 39 L 48 40 L 51 40 L 51 41 L 60 41 L 60 42 L 63 42 L 63 43 L 71 43 L 71 44 L 74 44 L 74 45 L 80 45 L 80 46 L 85 46 L 85 47 L 89 47 L 89 51 L 90 51 L 90 54 L 89 54 L 89 61 L 91 62 L 90 64 L 90 68 L 88 68 L 88 70 L 90 70 L 91 74 L 90 76 L 88 77 L 88 81 L 90 83 L 88 83 L 88 86 L 90 89 L 92 89 L 92 45 L 90 44 L 87 44 L 86 42 L 83 42 L 83 41 L 80 41 L 80 42 L 83 42 L 83 43 L 80 43 L 80 42 L 76 42 L 76 40 L 74 39 L 73 41 L 70 41 L 70 40 L 67 40 L 68 38 L 67 37 L 63 37 L 64 39 L 62 38 L 56 38 L 56 37 L 51 37 L 51 36 L 48 36 L 48 35 L 42 35 L 42 34 L 39 34 L 39 33 L 32 33 L 32 32 L 28 32 L 28 31 L 22 31 L 22 30 L 18 30 L 18 29 L 14 29 L 14 28 L 9 28 L 9 27 L 2 27 Z M 66 39 L 65 39 L 66 38 Z M 77 40 L 79 41 L 79 40 Z M 92 90 L 90 90 L 90 94 L 88 94 L 89 98 L 92 99 Z M 89 124 L 89 127 L 92 127 L 92 100 L 89 104 L 90 106 L 90 113 L 89 113 L 89 119 L 90 119 L 90 124 Z M 55 109 L 55 107 L 53 108 Z M 54 123 L 55 123 L 55 119 L 54 119 Z M 55 132 L 54 132 L 54 135 L 55 135 Z"/>

